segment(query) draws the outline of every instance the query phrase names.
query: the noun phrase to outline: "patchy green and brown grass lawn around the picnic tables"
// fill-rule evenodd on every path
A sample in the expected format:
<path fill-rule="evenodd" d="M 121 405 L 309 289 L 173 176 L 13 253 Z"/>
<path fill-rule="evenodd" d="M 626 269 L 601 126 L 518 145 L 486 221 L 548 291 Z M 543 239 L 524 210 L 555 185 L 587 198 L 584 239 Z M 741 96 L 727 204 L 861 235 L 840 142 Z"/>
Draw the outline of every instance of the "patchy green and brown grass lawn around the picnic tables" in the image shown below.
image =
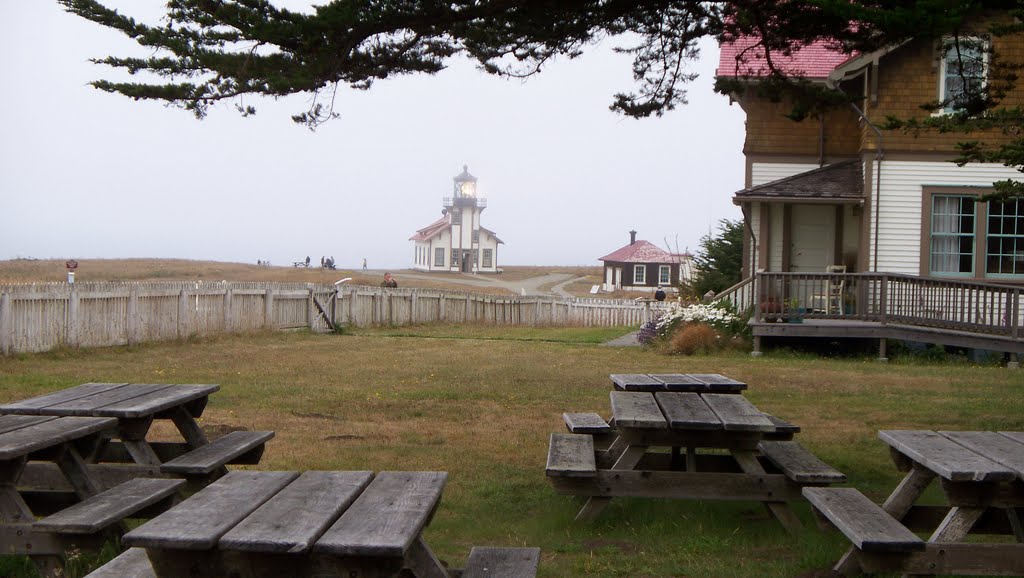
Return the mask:
<path fill-rule="evenodd" d="M 625 331 L 430 326 L 65 349 L 0 358 L 0 401 L 87 381 L 219 383 L 202 423 L 275 430 L 258 468 L 446 470 L 434 551 L 462 566 L 473 545 L 540 546 L 552 577 L 810 577 L 846 548 L 804 504 L 799 535 L 743 502 L 616 499 L 596 524 L 573 523 L 580 502 L 544 476 L 548 436 L 564 411 L 608 414 L 609 373 L 745 380 L 751 401 L 800 424 L 798 440 L 876 501 L 899 480 L 879 429 L 1024 429 L 1019 371 L 598 344 Z"/>

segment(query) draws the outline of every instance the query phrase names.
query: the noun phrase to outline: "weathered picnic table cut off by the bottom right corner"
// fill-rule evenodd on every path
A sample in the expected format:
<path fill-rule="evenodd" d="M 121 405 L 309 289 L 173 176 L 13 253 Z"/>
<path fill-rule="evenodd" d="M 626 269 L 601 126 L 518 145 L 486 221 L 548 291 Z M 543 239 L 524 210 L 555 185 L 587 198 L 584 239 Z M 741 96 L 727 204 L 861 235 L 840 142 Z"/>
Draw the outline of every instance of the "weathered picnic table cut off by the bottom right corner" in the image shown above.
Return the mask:
<path fill-rule="evenodd" d="M 903 429 L 879 438 L 906 472 L 882 506 L 853 488 L 804 490 L 853 542 L 837 572 L 1024 576 L 1024 432 Z M 920 503 L 935 480 L 945 503 Z M 1017 543 L 969 534 L 1007 534 Z"/>

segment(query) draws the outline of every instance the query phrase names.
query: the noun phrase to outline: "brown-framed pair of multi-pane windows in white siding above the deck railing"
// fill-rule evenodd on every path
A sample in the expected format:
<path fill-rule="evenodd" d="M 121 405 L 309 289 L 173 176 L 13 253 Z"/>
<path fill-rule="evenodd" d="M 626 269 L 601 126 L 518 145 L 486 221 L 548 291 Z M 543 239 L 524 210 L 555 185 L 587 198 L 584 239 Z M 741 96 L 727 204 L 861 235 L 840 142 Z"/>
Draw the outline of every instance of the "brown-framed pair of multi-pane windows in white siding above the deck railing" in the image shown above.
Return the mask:
<path fill-rule="evenodd" d="M 924 275 L 1024 279 L 1024 200 L 977 203 L 985 192 L 926 190 Z"/>

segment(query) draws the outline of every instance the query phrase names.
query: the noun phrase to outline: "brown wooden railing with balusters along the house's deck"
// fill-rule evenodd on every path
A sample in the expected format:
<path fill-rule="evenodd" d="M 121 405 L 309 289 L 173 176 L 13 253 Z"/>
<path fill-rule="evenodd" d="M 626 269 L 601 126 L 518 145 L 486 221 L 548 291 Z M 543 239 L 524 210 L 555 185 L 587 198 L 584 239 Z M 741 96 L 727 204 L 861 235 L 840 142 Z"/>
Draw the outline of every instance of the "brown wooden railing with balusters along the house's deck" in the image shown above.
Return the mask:
<path fill-rule="evenodd" d="M 1024 338 L 1019 286 L 909 275 L 758 273 L 754 319 L 871 321 Z"/>

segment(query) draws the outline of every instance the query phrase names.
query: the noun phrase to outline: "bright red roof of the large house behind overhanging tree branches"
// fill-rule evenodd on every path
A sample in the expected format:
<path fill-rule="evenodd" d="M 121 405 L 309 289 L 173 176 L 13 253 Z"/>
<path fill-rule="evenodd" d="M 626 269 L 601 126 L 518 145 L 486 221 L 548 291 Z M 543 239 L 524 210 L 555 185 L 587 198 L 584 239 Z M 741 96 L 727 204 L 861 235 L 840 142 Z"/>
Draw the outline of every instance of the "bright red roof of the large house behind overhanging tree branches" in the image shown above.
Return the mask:
<path fill-rule="evenodd" d="M 739 38 L 722 44 L 716 76 L 750 78 L 768 76 L 764 48 L 752 48 L 754 37 Z M 809 79 L 824 79 L 836 67 L 850 59 L 834 43 L 818 41 L 793 51 L 792 54 L 772 53 L 772 63 L 783 73 Z"/>

